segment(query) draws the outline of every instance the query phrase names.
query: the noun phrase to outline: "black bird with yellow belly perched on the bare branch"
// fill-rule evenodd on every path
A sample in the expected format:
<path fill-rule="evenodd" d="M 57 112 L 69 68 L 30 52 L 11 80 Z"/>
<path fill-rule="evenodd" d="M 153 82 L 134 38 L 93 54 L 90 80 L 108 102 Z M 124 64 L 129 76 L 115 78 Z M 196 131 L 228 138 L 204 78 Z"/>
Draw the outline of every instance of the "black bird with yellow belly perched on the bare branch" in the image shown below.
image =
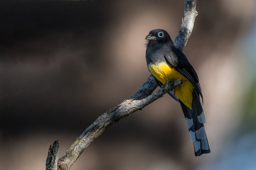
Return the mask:
<path fill-rule="evenodd" d="M 168 94 L 180 103 L 195 156 L 210 153 L 204 128 L 205 116 L 200 102 L 201 96 L 203 103 L 203 94 L 195 69 L 165 30 L 151 30 L 145 40 L 148 70 L 158 85 L 162 87 L 170 79 L 181 79 L 183 82 Z"/>

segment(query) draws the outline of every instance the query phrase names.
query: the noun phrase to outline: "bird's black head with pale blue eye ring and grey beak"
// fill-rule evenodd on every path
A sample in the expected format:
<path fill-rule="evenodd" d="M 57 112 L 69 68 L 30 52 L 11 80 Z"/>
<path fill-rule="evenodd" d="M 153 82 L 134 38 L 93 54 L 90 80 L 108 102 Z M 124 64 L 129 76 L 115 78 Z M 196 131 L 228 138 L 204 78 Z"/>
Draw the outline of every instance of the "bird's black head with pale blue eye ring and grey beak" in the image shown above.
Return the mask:
<path fill-rule="evenodd" d="M 145 39 L 148 40 L 147 45 L 155 44 L 156 42 L 172 43 L 170 35 L 163 29 L 151 30 Z"/>

